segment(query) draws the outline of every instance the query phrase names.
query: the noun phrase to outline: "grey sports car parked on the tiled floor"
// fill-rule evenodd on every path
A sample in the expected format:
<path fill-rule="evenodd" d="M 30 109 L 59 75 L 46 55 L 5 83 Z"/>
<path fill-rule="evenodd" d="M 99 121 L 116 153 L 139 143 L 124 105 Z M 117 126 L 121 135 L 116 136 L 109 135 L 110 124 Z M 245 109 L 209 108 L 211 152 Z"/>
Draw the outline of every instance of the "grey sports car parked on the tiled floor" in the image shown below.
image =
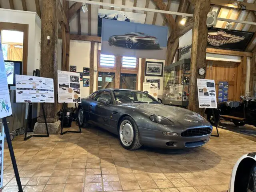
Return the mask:
<path fill-rule="evenodd" d="M 199 114 L 167 106 L 142 91 L 104 89 L 82 99 L 81 126 L 93 124 L 117 134 L 121 145 L 136 150 L 142 145 L 194 148 L 206 144 L 211 124 Z"/>

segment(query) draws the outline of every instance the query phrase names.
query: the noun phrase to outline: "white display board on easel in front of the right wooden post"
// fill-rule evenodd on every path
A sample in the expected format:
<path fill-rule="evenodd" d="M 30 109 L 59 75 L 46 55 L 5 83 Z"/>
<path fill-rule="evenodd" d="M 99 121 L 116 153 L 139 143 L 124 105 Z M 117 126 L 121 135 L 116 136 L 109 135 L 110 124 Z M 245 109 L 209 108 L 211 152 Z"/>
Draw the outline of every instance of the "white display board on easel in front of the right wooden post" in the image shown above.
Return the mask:
<path fill-rule="evenodd" d="M 217 108 L 214 80 L 197 79 L 199 108 Z"/>

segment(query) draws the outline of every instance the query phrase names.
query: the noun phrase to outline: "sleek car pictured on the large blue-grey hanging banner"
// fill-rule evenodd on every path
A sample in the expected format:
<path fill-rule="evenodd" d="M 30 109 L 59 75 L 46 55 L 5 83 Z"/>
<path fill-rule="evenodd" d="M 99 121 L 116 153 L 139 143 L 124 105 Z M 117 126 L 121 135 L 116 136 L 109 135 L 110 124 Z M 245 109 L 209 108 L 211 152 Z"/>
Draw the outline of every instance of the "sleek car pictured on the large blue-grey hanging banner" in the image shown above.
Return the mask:
<path fill-rule="evenodd" d="M 156 37 L 140 32 L 110 36 L 108 44 L 109 46 L 122 46 L 128 49 L 160 49 Z"/>

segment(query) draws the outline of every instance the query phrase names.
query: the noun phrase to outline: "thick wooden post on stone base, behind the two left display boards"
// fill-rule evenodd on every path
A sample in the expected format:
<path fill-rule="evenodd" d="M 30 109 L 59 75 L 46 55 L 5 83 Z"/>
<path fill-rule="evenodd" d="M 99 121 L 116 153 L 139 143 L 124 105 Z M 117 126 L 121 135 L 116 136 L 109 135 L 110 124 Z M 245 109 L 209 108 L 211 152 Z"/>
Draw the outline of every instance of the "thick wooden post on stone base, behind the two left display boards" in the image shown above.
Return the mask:
<path fill-rule="evenodd" d="M 54 79 L 54 97 L 57 98 L 57 41 L 58 41 L 58 3 L 59 0 L 42 1 L 42 22 L 41 22 L 41 66 L 40 75 Z M 58 121 L 58 103 L 46 103 L 44 105 L 47 123 Z M 37 122 L 44 124 L 43 112 Z M 45 126 L 45 125 L 44 125 Z M 35 126 L 36 129 L 36 126 Z"/>

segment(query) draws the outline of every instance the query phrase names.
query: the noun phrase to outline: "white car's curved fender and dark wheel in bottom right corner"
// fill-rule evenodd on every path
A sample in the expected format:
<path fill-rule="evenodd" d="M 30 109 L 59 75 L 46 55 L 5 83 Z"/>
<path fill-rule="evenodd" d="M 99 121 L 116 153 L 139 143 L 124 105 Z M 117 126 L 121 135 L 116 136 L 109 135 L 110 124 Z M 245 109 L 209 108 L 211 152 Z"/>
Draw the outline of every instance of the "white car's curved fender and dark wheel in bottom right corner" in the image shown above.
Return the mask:
<path fill-rule="evenodd" d="M 228 192 L 256 192 L 256 152 L 245 154 L 236 162 Z"/>

